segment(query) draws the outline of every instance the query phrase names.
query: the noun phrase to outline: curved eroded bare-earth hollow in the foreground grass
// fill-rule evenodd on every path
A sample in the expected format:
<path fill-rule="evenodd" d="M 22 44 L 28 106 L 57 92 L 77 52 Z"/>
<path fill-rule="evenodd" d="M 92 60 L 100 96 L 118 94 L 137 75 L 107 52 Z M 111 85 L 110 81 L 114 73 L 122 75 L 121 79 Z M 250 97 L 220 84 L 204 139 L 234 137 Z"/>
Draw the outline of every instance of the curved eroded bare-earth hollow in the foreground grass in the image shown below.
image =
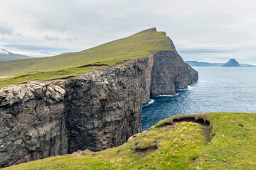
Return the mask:
<path fill-rule="evenodd" d="M 166 121 L 163 124 L 159 125 L 158 127 L 169 130 L 171 128 L 174 128 L 174 126 L 177 123 L 181 123 L 181 122 L 191 122 L 191 123 L 198 123 L 202 125 L 203 130 L 205 131 L 206 139 L 210 140 L 210 133 L 212 132 L 212 127 L 210 127 L 210 122 L 203 118 L 195 118 L 193 116 L 187 115 L 181 118 L 174 118 L 171 121 Z"/>

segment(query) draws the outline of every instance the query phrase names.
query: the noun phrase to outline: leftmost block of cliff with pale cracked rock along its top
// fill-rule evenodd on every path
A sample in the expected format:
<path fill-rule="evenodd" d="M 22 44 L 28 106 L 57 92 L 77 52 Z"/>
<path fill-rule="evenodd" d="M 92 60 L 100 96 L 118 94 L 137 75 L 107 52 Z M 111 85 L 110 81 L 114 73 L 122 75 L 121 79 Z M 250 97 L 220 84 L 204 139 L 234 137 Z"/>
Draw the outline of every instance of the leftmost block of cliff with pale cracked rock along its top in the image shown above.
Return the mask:
<path fill-rule="evenodd" d="M 65 90 L 60 86 L 33 83 L 1 89 L 0 167 L 67 153 L 61 102 Z"/>

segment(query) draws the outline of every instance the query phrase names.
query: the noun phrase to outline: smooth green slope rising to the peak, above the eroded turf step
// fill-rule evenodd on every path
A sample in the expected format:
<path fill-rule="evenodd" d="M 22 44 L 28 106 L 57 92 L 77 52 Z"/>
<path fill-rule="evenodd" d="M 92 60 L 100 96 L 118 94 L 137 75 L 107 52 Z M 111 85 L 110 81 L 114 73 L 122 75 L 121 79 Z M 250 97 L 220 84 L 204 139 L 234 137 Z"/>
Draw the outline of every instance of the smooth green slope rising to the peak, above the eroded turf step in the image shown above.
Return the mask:
<path fill-rule="evenodd" d="M 81 52 L 0 63 L 0 76 L 14 76 L 49 69 L 79 67 L 86 64 L 116 64 L 123 60 L 146 57 L 159 50 L 174 50 L 171 40 L 156 28 L 144 30 L 127 38 L 107 42 Z"/>

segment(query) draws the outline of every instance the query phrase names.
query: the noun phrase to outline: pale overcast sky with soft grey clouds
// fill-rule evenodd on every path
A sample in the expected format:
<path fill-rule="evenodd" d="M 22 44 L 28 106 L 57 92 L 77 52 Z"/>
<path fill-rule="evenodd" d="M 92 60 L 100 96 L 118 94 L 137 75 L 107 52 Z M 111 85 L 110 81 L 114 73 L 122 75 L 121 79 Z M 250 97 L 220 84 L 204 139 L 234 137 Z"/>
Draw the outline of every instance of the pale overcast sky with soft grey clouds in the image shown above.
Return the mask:
<path fill-rule="evenodd" d="M 76 52 L 154 27 L 183 60 L 256 64 L 253 0 L 0 0 L 0 47 L 21 55 Z"/>

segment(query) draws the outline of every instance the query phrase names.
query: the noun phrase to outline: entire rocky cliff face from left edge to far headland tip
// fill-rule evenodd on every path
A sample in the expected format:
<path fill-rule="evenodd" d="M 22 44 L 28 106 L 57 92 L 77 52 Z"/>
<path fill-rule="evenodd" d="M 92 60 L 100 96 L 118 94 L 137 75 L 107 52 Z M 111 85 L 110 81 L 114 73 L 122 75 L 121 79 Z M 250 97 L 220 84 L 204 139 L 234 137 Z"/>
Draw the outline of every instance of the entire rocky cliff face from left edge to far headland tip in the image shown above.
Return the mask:
<path fill-rule="evenodd" d="M 176 94 L 198 73 L 172 51 L 75 79 L 0 90 L 0 167 L 44 157 L 99 151 L 141 132 L 151 95 Z"/>

